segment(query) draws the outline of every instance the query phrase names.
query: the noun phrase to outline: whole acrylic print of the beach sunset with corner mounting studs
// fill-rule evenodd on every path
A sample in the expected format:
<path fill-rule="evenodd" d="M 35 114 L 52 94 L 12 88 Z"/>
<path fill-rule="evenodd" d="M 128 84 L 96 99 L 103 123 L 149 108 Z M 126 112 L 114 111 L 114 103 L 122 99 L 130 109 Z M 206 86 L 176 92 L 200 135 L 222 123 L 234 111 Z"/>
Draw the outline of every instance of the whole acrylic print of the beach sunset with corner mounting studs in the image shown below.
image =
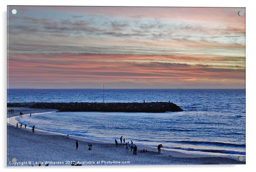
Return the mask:
<path fill-rule="evenodd" d="M 245 164 L 245 8 L 8 6 L 7 27 L 7 166 Z"/>

